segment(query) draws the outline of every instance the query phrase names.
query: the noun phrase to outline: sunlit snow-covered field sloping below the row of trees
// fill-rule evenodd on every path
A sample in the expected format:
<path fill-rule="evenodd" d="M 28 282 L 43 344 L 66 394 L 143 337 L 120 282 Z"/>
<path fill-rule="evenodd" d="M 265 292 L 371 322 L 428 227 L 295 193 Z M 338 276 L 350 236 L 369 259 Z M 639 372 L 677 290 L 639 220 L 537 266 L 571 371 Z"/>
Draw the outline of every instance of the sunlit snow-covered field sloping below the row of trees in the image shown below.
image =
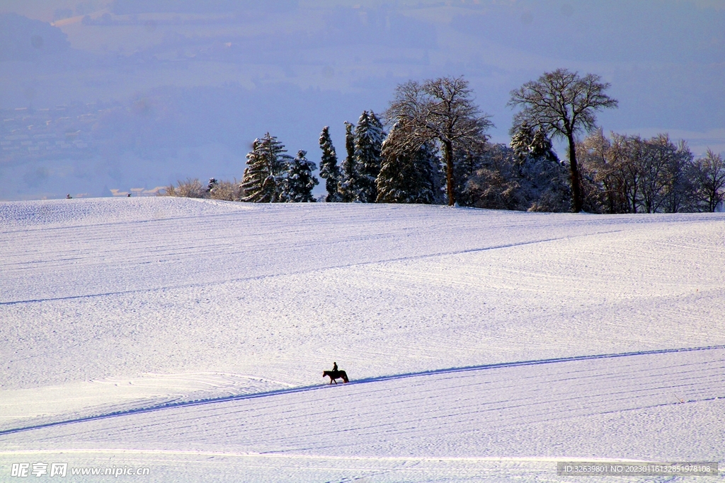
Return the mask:
<path fill-rule="evenodd" d="M 574 481 L 557 461 L 720 461 L 724 315 L 725 214 L 0 203 L 0 481 L 37 462 L 549 482 Z M 350 384 L 325 385 L 333 361 Z"/>

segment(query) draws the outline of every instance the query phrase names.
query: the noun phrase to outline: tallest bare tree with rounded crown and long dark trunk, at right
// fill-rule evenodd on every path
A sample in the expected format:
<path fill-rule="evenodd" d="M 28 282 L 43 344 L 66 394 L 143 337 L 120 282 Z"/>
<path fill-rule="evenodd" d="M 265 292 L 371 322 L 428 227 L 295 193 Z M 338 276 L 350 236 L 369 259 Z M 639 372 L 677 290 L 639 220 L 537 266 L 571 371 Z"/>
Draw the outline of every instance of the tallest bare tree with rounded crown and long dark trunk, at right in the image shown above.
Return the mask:
<path fill-rule="evenodd" d="M 565 138 L 568 141 L 569 167 L 571 171 L 572 209 L 581 211 L 581 180 L 576 162 L 575 135 L 589 132 L 596 127 L 595 112 L 617 106 L 616 99 L 605 91 L 608 83 L 601 83 L 601 77 L 587 74 L 579 77 L 577 72 L 558 69 L 544 72 L 538 80 L 529 81 L 511 91 L 510 106 L 523 106 L 515 114 L 514 123 L 541 127 L 547 135 Z"/>

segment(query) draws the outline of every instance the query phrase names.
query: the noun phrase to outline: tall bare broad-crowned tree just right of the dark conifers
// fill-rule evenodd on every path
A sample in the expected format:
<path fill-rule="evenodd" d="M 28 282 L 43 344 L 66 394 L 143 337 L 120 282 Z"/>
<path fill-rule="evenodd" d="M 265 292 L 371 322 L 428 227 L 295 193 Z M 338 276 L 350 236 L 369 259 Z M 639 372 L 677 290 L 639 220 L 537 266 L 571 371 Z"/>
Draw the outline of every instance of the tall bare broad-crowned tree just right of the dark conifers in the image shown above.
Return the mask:
<path fill-rule="evenodd" d="M 405 129 L 404 144 L 415 148 L 436 143 L 446 169 L 448 204 L 455 205 L 455 157 L 458 151 L 476 151 L 488 140 L 489 116 L 473 104 L 471 89 L 463 77 L 440 77 L 422 84 L 413 80 L 398 85 L 385 113 L 388 122 Z"/>

